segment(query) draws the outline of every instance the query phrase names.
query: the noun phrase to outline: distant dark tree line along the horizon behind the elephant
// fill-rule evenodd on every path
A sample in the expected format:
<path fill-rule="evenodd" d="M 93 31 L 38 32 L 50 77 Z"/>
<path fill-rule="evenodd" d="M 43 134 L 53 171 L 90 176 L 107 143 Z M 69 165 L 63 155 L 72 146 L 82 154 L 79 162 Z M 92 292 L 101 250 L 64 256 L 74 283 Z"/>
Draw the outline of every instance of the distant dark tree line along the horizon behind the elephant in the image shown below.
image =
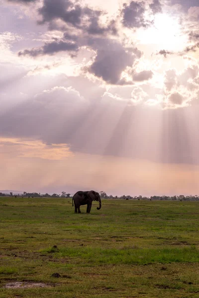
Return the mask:
<path fill-rule="evenodd" d="M 9 194 L 3 194 L 0 192 L 0 197 L 4 196 L 11 196 L 11 197 L 28 197 L 28 198 L 70 198 L 71 194 L 67 193 L 65 191 L 62 191 L 61 194 L 52 194 L 49 195 L 48 193 L 46 194 L 41 194 L 37 192 L 33 193 L 27 193 L 23 192 L 23 194 L 13 194 L 10 192 Z M 104 191 L 100 191 L 100 197 L 102 199 L 122 199 L 122 200 L 162 200 L 162 201 L 199 201 L 199 196 L 151 196 L 151 197 L 143 197 L 143 196 L 130 196 L 130 195 L 122 195 L 122 196 L 112 196 L 112 195 L 107 195 Z"/>

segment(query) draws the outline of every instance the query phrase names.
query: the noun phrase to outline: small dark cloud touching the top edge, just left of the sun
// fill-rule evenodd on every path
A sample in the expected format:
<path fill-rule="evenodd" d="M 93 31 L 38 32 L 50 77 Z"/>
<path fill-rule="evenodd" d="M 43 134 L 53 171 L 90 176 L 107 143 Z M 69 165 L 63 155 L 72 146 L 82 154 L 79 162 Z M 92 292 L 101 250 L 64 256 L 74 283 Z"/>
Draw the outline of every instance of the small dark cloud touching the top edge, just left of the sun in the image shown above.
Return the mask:
<path fill-rule="evenodd" d="M 122 23 L 128 28 L 146 27 L 148 23 L 144 18 L 145 5 L 144 2 L 131 1 L 128 4 L 123 4 Z"/>

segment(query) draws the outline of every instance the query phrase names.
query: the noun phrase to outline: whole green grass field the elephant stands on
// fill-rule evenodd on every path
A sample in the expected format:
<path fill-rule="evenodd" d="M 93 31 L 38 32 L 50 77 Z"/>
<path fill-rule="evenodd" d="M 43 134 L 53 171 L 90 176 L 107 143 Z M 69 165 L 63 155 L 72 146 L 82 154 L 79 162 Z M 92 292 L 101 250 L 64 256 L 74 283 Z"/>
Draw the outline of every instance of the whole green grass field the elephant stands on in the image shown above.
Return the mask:
<path fill-rule="evenodd" d="M 199 297 L 199 202 L 71 201 L 0 198 L 0 298 Z"/>

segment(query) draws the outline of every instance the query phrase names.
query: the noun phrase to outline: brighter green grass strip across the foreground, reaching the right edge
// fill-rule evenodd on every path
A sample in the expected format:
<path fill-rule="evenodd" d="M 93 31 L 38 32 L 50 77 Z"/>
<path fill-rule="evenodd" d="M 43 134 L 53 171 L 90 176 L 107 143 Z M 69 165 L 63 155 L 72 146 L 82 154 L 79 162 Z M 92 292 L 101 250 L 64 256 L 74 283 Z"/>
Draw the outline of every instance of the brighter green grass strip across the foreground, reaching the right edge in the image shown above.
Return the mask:
<path fill-rule="evenodd" d="M 53 249 L 43 250 L 42 252 L 54 253 Z M 81 258 L 82 262 L 94 265 L 100 264 L 134 264 L 145 265 L 152 262 L 167 264 L 172 262 L 199 262 L 199 249 L 195 246 L 185 248 L 95 248 L 64 247 L 55 252 L 56 257 Z"/>

